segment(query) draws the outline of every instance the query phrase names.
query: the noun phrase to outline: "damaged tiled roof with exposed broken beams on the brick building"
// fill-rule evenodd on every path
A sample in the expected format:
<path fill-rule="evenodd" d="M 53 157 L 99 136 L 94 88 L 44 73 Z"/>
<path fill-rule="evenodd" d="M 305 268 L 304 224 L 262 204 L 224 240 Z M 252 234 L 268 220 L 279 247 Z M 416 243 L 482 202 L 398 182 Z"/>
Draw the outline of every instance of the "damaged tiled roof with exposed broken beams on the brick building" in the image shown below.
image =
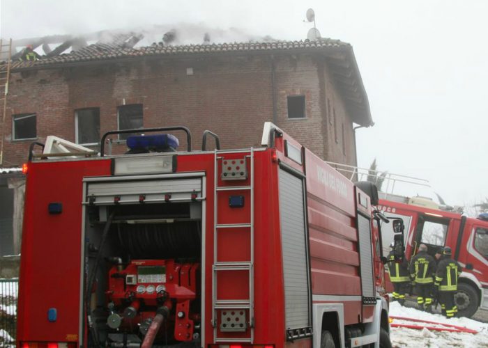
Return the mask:
<path fill-rule="evenodd" d="M 54 38 L 54 37 L 50 37 Z M 55 37 L 59 42 L 60 37 Z M 65 37 L 66 38 L 66 37 Z M 112 40 L 98 40 L 88 45 L 87 40 L 66 38 L 61 45 L 50 49 L 49 40 L 36 39 L 34 49 L 42 45 L 44 56 L 37 61 L 19 61 L 22 51 L 12 58 L 11 71 L 44 70 L 91 63 L 109 63 L 114 61 L 133 61 L 141 58 L 191 58 L 213 55 L 243 54 L 321 54 L 326 59 L 333 73 L 337 88 L 340 90 L 353 122 L 366 127 L 372 126 L 371 112 L 366 90 L 363 86 L 356 58 L 349 43 L 329 38 L 319 40 L 278 41 L 268 38 L 262 42 L 209 43 L 200 45 L 168 45 L 165 41 L 153 45 L 135 47 L 142 35 L 128 33 L 112 35 Z M 55 42 L 51 40 L 50 42 Z M 23 43 L 23 42 L 21 42 Z M 25 42 L 24 45 L 27 45 Z M 68 52 L 69 53 L 63 53 Z M 6 65 L 1 65 L 0 70 Z"/>

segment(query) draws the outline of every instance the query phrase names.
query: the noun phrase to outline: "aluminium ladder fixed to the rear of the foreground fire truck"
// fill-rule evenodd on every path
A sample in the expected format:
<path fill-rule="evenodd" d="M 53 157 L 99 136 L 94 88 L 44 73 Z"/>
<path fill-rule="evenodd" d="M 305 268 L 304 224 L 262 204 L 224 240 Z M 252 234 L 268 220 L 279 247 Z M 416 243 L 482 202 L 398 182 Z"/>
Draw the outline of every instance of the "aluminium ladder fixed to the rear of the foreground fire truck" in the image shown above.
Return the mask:
<path fill-rule="evenodd" d="M 224 171 L 224 161 L 226 159 L 222 156 L 224 154 L 243 154 L 244 163 L 247 159 L 250 160 L 249 185 L 245 186 L 218 186 L 218 168 L 222 166 Z M 229 161 L 232 161 L 230 159 Z M 245 150 L 215 150 L 214 162 L 214 200 L 213 200 L 213 275 L 212 275 L 212 325 L 214 342 L 250 342 L 254 340 L 254 150 L 253 148 Z M 219 192 L 233 191 L 236 193 L 250 191 L 250 216 L 249 221 L 242 223 L 219 223 L 218 222 L 218 200 Z M 222 199 L 222 198 L 220 198 Z M 221 233 L 232 233 L 233 229 L 243 228 L 248 231 L 250 239 L 250 258 L 249 260 L 239 262 L 219 261 L 218 260 L 218 239 Z M 229 246 L 232 247 L 232 246 Z M 240 248 L 239 245 L 234 247 Z M 218 275 L 222 272 L 229 271 L 245 271 L 248 274 L 249 297 L 246 299 L 219 299 L 218 298 Z M 218 310 L 221 311 L 221 322 L 218 327 Z M 245 320 L 244 329 L 238 329 L 245 319 L 245 311 L 248 311 L 249 317 Z M 240 315 L 239 313 L 244 313 Z M 225 321 L 225 322 L 224 322 Z M 232 325 L 234 324 L 234 325 Z M 234 328 L 229 327 L 234 326 Z M 250 335 L 243 337 L 225 338 L 218 335 L 218 331 L 222 332 L 241 332 L 247 331 L 247 326 L 250 329 Z"/>

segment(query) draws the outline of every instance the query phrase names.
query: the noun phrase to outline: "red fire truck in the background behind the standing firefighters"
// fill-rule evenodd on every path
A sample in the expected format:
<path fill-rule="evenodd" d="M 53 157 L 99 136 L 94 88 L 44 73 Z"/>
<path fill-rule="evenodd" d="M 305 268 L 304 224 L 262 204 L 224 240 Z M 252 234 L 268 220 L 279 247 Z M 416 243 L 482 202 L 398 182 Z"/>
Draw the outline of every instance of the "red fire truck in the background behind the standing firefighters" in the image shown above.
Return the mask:
<path fill-rule="evenodd" d="M 459 315 L 471 317 L 478 308 L 488 309 L 488 219 L 478 219 L 439 209 L 426 198 L 383 194 L 379 209 L 386 216 L 402 219 L 406 233 L 406 258 L 415 255 L 420 244 L 435 255 L 443 246 L 452 248 L 452 258 L 462 266 L 455 301 Z M 391 229 L 383 226 L 383 246 L 392 241 Z"/>

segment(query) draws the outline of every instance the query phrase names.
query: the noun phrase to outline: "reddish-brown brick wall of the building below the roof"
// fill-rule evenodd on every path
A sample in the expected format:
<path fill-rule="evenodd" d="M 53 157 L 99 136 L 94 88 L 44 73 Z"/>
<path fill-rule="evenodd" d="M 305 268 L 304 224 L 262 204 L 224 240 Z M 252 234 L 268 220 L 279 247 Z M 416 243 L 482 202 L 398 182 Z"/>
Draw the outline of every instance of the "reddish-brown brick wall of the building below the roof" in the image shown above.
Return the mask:
<path fill-rule="evenodd" d="M 192 68 L 192 75 L 187 68 Z M 275 56 L 275 88 L 279 127 L 323 158 L 355 163 L 351 120 L 323 58 Z M 305 119 L 288 118 L 288 95 L 305 95 Z M 336 113 L 337 143 L 328 103 Z M 36 113 L 38 141 L 51 134 L 75 141 L 75 109 L 100 108 L 103 134 L 117 129 L 117 106 L 123 104 L 143 104 L 144 127 L 189 127 L 193 149 L 201 147 L 204 129 L 220 136 L 222 148 L 258 146 L 264 122 L 273 120 L 271 58 L 141 60 L 15 72 L 10 80 L 4 166 L 22 164 L 31 143 L 12 141 L 12 115 Z M 184 137 L 179 138 L 185 147 Z"/>

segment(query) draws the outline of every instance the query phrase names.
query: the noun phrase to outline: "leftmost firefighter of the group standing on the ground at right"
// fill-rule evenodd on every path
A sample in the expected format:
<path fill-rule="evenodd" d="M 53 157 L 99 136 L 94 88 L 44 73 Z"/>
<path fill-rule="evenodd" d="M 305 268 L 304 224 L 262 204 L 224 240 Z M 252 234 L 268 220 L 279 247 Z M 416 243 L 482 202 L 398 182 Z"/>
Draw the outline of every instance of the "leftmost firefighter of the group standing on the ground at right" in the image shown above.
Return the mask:
<path fill-rule="evenodd" d="M 393 301 L 398 301 L 402 306 L 405 302 L 405 293 L 410 285 L 409 262 L 405 258 L 395 255 L 395 242 L 390 244 L 388 254 L 388 274 L 393 284 Z"/>

